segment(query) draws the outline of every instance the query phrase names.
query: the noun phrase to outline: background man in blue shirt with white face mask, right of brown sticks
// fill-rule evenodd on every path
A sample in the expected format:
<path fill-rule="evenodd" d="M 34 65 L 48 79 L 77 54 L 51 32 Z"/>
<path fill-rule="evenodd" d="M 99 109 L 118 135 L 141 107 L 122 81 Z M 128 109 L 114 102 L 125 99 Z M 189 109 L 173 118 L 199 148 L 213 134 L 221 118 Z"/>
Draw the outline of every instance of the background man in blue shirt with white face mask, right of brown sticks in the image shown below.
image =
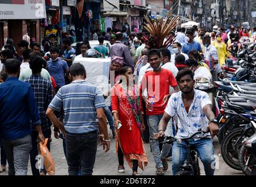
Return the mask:
<path fill-rule="evenodd" d="M 191 50 L 197 50 L 200 53 L 202 53 L 202 47 L 200 46 L 200 43 L 193 40 L 193 31 L 192 30 L 188 30 L 186 32 L 186 40 L 188 41 L 188 43 L 185 43 L 182 46 L 182 48 L 181 48 L 182 53 L 188 54 L 189 51 L 191 51 Z"/>

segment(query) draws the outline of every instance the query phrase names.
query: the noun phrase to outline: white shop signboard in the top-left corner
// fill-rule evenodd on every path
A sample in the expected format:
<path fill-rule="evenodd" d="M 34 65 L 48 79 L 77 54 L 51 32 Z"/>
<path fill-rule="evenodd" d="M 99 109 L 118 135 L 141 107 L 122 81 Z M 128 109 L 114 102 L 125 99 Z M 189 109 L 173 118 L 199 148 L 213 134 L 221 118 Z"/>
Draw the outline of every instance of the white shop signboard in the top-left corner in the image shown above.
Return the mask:
<path fill-rule="evenodd" d="M 44 0 L 0 1 L 0 19 L 46 18 L 45 2 Z"/>

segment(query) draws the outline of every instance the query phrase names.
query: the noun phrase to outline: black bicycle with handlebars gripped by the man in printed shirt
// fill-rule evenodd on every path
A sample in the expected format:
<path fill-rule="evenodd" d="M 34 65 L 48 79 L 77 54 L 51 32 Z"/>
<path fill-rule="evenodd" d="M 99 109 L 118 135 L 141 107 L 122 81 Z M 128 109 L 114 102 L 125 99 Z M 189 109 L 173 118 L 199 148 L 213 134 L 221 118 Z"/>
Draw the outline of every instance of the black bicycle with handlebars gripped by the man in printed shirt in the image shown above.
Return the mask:
<path fill-rule="evenodd" d="M 178 144 L 181 144 L 182 141 L 185 141 L 186 143 L 186 160 L 185 165 L 181 166 L 181 171 L 177 173 L 177 175 L 200 175 L 200 167 L 198 162 L 198 153 L 196 152 L 195 148 L 189 144 L 189 140 L 193 137 L 195 137 L 198 134 L 205 134 L 205 131 L 202 131 L 201 129 L 198 129 L 198 132 L 192 134 L 189 137 L 186 138 L 177 138 L 173 136 L 164 136 L 164 139 L 160 140 L 160 143 L 158 144 L 172 144 L 174 141 L 177 141 Z M 207 138 L 211 136 L 206 136 L 203 138 Z"/>

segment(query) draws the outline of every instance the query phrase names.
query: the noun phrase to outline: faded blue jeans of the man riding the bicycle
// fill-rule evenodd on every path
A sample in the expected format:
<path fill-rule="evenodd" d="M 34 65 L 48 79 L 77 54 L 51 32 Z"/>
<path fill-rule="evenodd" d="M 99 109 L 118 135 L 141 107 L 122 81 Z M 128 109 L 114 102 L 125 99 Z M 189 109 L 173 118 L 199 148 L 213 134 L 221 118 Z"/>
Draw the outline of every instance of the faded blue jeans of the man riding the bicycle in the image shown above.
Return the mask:
<path fill-rule="evenodd" d="M 203 138 L 200 140 L 189 140 L 191 146 L 195 146 L 195 150 L 198 152 L 200 159 L 203 162 L 206 175 L 213 175 L 215 172 L 215 158 L 212 140 L 210 138 Z M 184 165 L 186 160 L 186 143 L 182 141 L 182 144 L 174 142 L 172 146 L 172 174 L 177 175 L 181 171 L 181 166 Z"/>

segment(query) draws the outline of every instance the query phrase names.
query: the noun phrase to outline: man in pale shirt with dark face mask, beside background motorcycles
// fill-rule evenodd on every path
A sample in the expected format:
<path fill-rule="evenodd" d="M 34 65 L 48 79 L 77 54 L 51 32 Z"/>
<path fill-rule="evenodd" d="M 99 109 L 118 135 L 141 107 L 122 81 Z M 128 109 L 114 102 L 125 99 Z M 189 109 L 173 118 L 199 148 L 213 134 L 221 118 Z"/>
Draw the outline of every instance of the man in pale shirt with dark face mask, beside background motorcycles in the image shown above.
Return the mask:
<path fill-rule="evenodd" d="M 203 37 L 203 44 L 205 45 L 204 56 L 205 56 L 206 64 L 209 64 L 209 62 L 213 60 L 217 74 L 220 74 L 220 72 L 222 72 L 222 69 L 220 68 L 220 64 L 219 64 L 218 52 L 216 47 L 210 43 L 210 36 L 206 35 Z"/>

